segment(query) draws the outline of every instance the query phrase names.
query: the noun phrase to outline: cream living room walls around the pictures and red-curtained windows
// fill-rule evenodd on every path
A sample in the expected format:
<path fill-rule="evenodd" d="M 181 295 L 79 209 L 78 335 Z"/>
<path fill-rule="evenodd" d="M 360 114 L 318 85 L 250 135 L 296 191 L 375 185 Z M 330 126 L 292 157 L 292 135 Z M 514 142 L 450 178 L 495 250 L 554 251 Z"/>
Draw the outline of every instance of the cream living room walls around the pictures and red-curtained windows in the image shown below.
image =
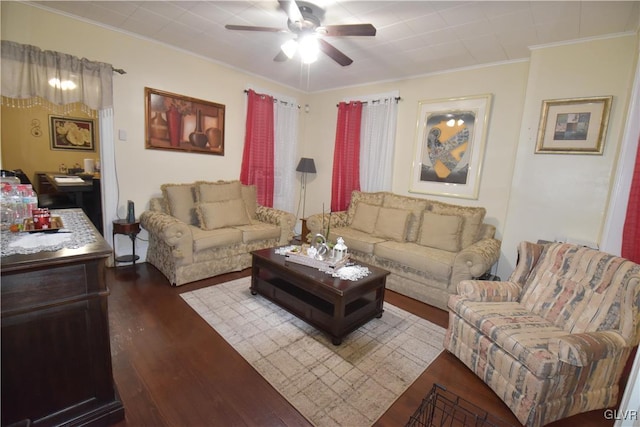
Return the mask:
<path fill-rule="evenodd" d="M 1 8 L 3 39 L 108 62 L 127 71 L 124 76 L 114 75 L 116 138 L 120 129 L 127 133 L 126 141 L 115 141 L 119 215 L 124 214 L 128 199 L 134 200 L 140 211 L 150 197 L 159 194 L 159 186 L 165 182 L 236 179 L 244 138 L 243 90 L 247 87 L 309 104 L 309 112 L 302 109 L 300 113 L 299 154 L 316 160 L 318 174 L 309 177 L 307 214 L 319 212 L 323 204 L 328 209 L 330 204 L 337 102 L 399 91 L 402 101 L 393 191 L 409 194 L 418 102 L 490 93 L 493 105 L 478 199 L 418 196 L 486 207 L 487 221 L 504 239 L 497 269 L 502 276 L 512 269 L 521 239 L 555 238 L 561 233 L 581 239 L 600 238 L 636 67 L 637 36 L 535 49 L 531 61 L 305 94 L 161 44 L 35 7 L 2 2 Z M 225 156 L 146 150 L 145 86 L 225 104 Z M 614 95 L 614 108 L 603 156 L 533 154 L 542 99 L 606 94 Z M 535 178 L 540 175 L 544 178 Z M 116 212 L 105 214 L 110 218 Z M 585 221 L 576 220 L 582 218 Z M 143 257 L 144 245 L 139 242 L 138 246 Z"/>

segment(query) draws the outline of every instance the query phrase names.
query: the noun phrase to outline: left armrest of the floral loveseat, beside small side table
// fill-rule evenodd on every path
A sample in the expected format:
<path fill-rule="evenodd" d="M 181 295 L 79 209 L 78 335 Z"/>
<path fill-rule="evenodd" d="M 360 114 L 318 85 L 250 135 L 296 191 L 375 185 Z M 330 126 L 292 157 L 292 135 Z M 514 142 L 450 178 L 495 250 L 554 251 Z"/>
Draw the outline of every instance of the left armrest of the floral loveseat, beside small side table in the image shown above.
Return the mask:
<path fill-rule="evenodd" d="M 193 235 L 186 223 L 163 212 L 144 211 L 140 225 L 171 249 L 176 264 L 193 262 Z"/>

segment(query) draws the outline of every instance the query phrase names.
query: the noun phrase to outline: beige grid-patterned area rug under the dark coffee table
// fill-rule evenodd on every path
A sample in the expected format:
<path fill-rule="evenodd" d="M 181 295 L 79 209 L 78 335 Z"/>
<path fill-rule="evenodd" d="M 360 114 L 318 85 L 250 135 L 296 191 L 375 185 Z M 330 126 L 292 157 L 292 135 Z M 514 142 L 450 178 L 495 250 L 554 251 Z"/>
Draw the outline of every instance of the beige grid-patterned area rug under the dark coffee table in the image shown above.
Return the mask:
<path fill-rule="evenodd" d="M 443 349 L 444 329 L 391 304 L 335 346 L 250 278 L 182 298 L 312 424 L 370 426 Z"/>

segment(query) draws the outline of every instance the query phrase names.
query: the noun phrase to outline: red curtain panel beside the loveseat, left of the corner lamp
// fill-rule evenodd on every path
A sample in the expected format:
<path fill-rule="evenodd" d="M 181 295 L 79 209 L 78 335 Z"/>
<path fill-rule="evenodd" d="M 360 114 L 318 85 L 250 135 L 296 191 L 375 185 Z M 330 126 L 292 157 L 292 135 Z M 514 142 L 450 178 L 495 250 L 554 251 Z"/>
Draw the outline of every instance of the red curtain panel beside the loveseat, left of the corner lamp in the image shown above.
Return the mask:
<path fill-rule="evenodd" d="M 273 206 L 273 97 L 248 91 L 240 182 L 255 185 L 258 204 Z"/>

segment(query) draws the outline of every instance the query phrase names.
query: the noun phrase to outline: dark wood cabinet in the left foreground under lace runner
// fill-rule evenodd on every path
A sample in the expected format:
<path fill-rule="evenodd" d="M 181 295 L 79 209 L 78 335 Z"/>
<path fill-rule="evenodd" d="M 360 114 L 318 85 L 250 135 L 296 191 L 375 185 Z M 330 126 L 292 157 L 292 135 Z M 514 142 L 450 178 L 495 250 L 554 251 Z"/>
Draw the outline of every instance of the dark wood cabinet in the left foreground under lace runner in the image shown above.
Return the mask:
<path fill-rule="evenodd" d="M 91 226 L 89 226 L 91 227 Z M 2 425 L 108 425 L 113 383 L 106 241 L 2 258 Z"/>

